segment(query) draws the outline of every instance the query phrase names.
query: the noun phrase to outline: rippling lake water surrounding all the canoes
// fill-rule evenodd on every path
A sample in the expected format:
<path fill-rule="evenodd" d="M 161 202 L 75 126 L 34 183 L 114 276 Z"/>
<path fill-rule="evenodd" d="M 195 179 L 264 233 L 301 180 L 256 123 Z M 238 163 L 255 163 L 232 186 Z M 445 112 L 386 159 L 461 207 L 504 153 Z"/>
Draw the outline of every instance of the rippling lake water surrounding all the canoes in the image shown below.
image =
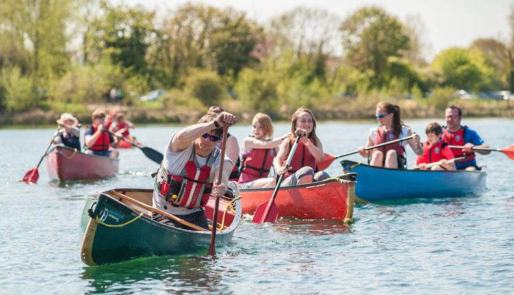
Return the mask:
<path fill-rule="evenodd" d="M 430 121 L 406 123 L 423 134 Z M 375 123 L 323 122 L 318 133 L 326 152 L 341 154 L 364 145 Z M 514 119 L 463 123 L 492 147 L 514 143 Z M 134 134 L 163 151 L 179 129 L 138 127 Z M 277 124 L 276 135 L 288 130 L 289 124 Z M 251 128 L 230 132 L 243 139 Z M 151 188 L 149 174 L 157 165 L 140 150 L 122 150 L 116 178 L 60 184 L 49 180 L 43 163 L 37 185 L 19 182 L 52 133 L 0 130 L 1 294 L 514 293 L 514 161 L 502 153 L 478 156 L 488 167 L 487 189 L 474 196 L 358 205 L 350 226 L 325 220 L 252 224 L 246 217 L 214 261 L 200 253 L 88 267 L 79 258 L 88 193 Z M 341 174 L 339 163 L 328 172 Z"/>

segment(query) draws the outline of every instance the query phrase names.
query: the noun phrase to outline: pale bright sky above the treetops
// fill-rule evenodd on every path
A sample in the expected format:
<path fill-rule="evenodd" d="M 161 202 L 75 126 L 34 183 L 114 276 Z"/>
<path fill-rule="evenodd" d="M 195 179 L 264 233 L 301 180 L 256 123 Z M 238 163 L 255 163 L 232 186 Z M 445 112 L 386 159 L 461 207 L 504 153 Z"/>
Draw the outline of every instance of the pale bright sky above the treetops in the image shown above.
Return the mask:
<path fill-rule="evenodd" d="M 161 16 L 186 0 L 112 0 L 128 5 L 141 4 L 157 10 Z M 192 1 L 208 3 L 218 8 L 232 7 L 246 12 L 249 19 L 266 23 L 269 19 L 297 6 L 326 9 L 344 19 L 358 8 L 378 5 L 390 14 L 405 21 L 407 16 L 416 16 L 424 24 L 423 42 L 426 56 L 432 58 L 444 49 L 467 47 L 476 38 L 500 38 L 511 35 L 509 21 L 514 0 L 213 0 Z"/>

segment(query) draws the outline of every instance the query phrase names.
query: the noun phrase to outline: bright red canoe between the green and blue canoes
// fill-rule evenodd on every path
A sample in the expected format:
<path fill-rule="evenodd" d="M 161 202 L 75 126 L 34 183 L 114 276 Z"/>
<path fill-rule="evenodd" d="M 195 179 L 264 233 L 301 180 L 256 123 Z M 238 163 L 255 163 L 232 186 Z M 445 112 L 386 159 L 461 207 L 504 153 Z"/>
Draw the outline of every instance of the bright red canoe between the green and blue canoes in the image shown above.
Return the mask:
<path fill-rule="evenodd" d="M 352 220 L 355 179 L 356 174 L 352 173 L 306 185 L 280 187 L 275 198 L 279 217 Z M 254 214 L 260 204 L 269 201 L 273 189 L 241 189 L 243 213 Z"/>

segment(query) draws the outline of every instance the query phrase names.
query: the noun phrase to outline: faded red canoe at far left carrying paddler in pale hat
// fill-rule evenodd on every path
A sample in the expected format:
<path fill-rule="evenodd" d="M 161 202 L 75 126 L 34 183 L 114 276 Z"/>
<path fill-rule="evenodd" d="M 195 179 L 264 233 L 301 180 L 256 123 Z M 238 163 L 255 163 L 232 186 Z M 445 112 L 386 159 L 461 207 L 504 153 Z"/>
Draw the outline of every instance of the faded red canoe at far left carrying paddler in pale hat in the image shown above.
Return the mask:
<path fill-rule="evenodd" d="M 57 145 L 47 156 L 47 169 L 51 179 L 67 181 L 101 179 L 116 176 L 119 159 L 93 156 L 75 149 Z"/>

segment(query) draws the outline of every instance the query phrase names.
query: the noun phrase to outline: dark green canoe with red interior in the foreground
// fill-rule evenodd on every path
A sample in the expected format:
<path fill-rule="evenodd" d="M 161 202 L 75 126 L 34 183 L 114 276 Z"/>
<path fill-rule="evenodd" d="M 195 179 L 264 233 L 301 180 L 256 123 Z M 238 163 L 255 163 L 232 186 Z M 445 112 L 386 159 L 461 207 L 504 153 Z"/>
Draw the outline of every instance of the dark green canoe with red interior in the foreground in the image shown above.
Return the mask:
<path fill-rule="evenodd" d="M 151 220 L 151 211 L 158 211 L 151 207 L 152 194 L 152 189 L 113 189 L 90 196 L 82 214 L 82 261 L 97 266 L 151 255 L 207 252 L 210 231 Z M 212 220 L 214 205 L 211 197 L 205 208 L 208 220 Z M 216 246 L 230 242 L 240 220 L 239 198 L 220 198 Z"/>

